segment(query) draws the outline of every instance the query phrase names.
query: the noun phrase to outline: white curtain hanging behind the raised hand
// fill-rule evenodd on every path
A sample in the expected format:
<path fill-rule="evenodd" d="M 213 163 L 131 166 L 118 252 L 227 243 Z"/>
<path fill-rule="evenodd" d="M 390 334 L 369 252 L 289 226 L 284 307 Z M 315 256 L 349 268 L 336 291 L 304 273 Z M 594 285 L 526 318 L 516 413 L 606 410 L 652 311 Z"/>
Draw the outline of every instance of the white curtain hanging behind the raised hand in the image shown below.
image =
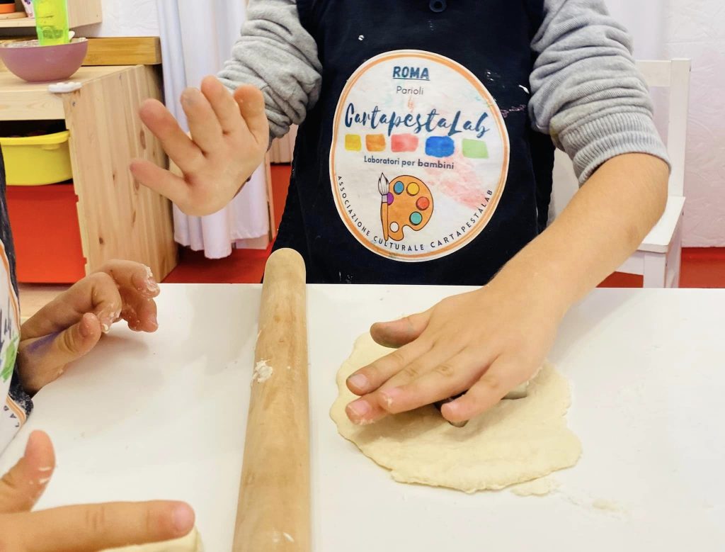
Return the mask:
<path fill-rule="evenodd" d="M 244 22 L 244 0 L 157 0 L 166 104 L 181 127 L 188 130 L 179 96 L 187 86 L 198 87 L 206 75 L 220 70 Z M 240 152 L 241 153 L 241 152 Z M 210 259 L 231 254 L 232 247 L 264 248 L 268 244 L 269 214 L 265 169 L 228 207 L 206 217 L 184 215 L 174 206 L 174 236 Z"/>

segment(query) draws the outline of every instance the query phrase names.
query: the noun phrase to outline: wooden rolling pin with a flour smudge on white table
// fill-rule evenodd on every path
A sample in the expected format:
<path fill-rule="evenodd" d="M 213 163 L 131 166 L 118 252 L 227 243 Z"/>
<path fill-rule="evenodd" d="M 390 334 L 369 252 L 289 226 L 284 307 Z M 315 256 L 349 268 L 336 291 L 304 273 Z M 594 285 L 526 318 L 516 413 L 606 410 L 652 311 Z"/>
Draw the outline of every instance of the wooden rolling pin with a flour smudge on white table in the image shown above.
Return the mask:
<path fill-rule="evenodd" d="M 233 552 L 309 552 L 310 422 L 305 263 L 265 269 Z"/>

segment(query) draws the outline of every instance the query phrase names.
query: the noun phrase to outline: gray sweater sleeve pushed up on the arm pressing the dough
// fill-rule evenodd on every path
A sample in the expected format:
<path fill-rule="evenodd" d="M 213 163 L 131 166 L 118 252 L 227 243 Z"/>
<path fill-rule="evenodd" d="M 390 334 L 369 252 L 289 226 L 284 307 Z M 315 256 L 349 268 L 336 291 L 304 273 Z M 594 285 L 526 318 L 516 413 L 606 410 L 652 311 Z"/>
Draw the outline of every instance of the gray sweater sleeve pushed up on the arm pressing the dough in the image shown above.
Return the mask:
<path fill-rule="evenodd" d="M 534 128 L 571 157 L 580 183 L 616 155 L 667 160 L 631 38 L 604 0 L 545 0 L 544 7 L 531 44 L 539 54 L 529 103 Z"/>

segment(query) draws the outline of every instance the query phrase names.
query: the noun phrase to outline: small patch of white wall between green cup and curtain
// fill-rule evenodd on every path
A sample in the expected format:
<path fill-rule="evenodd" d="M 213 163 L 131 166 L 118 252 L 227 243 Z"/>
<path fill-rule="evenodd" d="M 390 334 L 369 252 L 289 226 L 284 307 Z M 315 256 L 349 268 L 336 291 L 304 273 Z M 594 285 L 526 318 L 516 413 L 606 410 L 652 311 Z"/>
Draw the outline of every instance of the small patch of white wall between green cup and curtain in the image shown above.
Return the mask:
<path fill-rule="evenodd" d="M 159 36 L 156 0 L 103 0 L 103 22 L 78 36 Z"/>

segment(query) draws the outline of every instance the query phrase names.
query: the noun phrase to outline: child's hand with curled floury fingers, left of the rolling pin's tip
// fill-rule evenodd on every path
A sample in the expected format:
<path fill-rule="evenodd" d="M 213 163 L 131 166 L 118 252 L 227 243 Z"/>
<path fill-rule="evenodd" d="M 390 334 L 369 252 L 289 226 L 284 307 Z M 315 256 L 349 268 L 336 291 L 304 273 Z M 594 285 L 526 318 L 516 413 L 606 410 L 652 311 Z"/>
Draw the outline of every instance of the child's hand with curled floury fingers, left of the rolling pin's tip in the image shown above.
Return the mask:
<path fill-rule="evenodd" d="M 135 331 L 156 331 L 159 286 L 144 265 L 114 260 L 78 281 L 22 325 L 17 362 L 30 393 L 57 379 L 123 318 Z"/>

